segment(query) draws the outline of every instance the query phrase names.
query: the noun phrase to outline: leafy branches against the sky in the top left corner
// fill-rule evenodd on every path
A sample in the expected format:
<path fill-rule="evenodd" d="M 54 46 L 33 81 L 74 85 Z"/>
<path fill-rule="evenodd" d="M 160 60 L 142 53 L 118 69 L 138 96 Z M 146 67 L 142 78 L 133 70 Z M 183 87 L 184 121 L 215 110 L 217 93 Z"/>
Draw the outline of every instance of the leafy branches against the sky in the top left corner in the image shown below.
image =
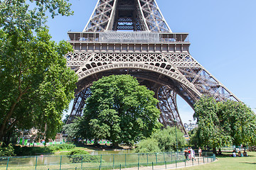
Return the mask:
<path fill-rule="evenodd" d="M 30 1 L 30 2 L 29 2 Z M 73 11 L 70 10 L 69 0 L 4 0 L 0 1 L 0 28 L 3 30 L 35 30 L 41 28 L 46 23 L 46 13 L 51 17 L 70 16 Z"/>

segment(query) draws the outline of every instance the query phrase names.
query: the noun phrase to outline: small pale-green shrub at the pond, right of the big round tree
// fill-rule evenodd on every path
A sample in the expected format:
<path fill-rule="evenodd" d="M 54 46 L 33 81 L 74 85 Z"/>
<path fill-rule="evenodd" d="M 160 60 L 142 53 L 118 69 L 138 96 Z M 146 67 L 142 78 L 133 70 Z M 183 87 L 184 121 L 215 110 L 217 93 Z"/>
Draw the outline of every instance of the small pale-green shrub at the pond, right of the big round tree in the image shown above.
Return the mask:
<path fill-rule="evenodd" d="M 156 153 L 161 152 L 159 148 L 159 143 L 153 138 L 147 138 L 146 140 L 141 140 L 135 147 L 136 153 Z"/>

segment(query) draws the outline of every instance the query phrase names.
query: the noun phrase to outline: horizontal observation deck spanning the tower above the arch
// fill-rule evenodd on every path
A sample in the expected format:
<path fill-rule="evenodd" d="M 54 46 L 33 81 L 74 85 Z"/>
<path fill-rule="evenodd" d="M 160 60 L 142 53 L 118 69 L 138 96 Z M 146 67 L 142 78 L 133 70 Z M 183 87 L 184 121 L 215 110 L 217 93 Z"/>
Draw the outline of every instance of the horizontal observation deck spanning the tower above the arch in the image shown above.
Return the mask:
<path fill-rule="evenodd" d="M 68 32 L 75 52 L 188 52 L 188 33 Z"/>

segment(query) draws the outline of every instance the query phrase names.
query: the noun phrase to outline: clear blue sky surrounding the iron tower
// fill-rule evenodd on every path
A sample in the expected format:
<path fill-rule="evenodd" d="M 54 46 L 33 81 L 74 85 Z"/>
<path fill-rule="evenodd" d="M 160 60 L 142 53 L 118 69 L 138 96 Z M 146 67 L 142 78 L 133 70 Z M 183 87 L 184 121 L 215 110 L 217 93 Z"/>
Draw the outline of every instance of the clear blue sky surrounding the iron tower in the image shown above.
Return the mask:
<path fill-rule="evenodd" d="M 67 40 L 68 30 L 82 31 L 97 0 L 72 0 L 74 16 L 49 19 L 53 40 Z M 256 108 L 256 1 L 156 0 L 171 30 L 189 33 L 191 55 L 241 101 Z M 183 122 L 193 110 L 181 99 Z"/>

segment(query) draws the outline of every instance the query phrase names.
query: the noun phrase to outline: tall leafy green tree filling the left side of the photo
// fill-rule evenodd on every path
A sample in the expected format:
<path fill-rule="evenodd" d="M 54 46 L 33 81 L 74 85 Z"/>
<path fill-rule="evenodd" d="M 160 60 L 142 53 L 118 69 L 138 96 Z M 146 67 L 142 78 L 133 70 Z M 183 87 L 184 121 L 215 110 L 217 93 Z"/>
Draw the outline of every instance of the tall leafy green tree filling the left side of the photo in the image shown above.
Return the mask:
<path fill-rule="evenodd" d="M 46 11 L 70 15 L 65 0 L 0 2 L 0 140 L 15 128 L 41 130 L 54 137 L 61 115 L 74 96 L 78 77 L 63 57 L 65 41 L 50 40 Z M 32 8 L 32 9 L 28 9 Z"/>

